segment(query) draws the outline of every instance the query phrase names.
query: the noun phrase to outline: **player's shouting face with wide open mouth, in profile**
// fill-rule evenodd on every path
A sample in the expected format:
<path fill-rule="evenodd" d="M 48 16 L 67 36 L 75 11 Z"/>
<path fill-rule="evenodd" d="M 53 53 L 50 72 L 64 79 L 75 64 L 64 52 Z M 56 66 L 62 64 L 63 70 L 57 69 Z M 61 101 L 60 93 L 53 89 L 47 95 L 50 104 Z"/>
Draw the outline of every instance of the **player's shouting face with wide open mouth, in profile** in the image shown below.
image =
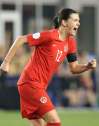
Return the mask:
<path fill-rule="evenodd" d="M 66 21 L 67 23 L 67 33 L 71 35 L 76 35 L 78 28 L 80 26 L 79 14 L 73 13 L 70 15 L 70 18 Z"/>

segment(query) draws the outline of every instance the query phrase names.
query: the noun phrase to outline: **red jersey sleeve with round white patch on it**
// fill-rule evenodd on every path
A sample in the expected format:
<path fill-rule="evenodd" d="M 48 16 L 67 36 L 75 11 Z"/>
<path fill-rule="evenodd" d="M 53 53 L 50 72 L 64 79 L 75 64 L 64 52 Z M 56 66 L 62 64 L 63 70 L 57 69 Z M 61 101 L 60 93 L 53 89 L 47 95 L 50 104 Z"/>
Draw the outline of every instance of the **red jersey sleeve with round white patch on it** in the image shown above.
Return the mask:
<path fill-rule="evenodd" d="M 50 40 L 51 40 L 51 35 L 49 31 L 37 32 L 34 34 L 27 35 L 27 42 L 30 46 L 44 44 L 49 42 Z"/>

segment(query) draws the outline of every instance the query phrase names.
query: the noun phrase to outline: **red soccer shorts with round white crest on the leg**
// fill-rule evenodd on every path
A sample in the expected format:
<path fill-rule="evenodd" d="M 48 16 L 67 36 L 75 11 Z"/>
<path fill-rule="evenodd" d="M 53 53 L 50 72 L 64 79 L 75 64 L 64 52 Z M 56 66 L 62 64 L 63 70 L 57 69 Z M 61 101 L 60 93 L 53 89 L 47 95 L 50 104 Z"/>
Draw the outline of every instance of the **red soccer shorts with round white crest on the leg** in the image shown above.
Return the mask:
<path fill-rule="evenodd" d="M 39 119 L 54 109 L 48 94 L 44 89 L 36 89 L 28 84 L 18 86 L 20 109 L 23 118 Z"/>

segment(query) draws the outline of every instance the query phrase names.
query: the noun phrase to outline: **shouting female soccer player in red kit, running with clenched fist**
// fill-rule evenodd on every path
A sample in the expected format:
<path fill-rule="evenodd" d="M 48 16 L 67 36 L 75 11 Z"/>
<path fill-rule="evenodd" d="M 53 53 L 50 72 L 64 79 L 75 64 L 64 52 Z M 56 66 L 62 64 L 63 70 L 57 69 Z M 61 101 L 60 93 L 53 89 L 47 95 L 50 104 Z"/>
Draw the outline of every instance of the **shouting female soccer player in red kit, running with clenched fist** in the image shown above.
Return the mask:
<path fill-rule="evenodd" d="M 54 28 L 51 30 L 17 37 L 1 64 L 0 69 L 8 72 L 12 58 L 20 46 L 24 43 L 35 46 L 35 52 L 18 80 L 21 114 L 23 118 L 30 120 L 32 126 L 42 126 L 41 119 L 46 122 L 46 126 L 61 126 L 46 88 L 65 58 L 73 74 L 96 67 L 95 59 L 87 64 L 78 63 L 74 36 L 79 26 L 79 13 L 64 8 L 55 17 Z"/>

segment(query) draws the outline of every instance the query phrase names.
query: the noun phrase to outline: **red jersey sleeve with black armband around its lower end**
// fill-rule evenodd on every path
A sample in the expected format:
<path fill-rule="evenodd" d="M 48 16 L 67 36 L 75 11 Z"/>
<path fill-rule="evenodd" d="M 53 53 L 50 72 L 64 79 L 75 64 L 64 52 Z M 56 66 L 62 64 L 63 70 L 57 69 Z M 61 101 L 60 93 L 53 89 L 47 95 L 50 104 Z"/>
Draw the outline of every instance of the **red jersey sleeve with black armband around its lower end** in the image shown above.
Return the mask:
<path fill-rule="evenodd" d="M 67 60 L 68 62 L 74 62 L 77 60 L 77 42 L 74 38 L 71 38 L 69 41 Z"/>

